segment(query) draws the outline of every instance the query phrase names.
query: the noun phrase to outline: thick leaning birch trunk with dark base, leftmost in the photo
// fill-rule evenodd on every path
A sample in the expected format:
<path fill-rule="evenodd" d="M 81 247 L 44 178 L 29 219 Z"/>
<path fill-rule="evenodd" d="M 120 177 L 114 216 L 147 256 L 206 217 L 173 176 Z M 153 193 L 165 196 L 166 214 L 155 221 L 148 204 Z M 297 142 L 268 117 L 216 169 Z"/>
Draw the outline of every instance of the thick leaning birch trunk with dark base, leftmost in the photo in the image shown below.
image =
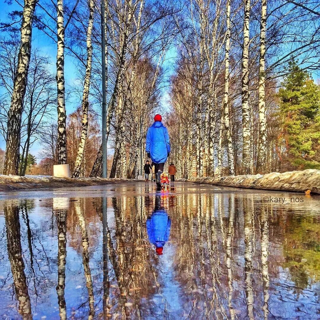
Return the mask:
<path fill-rule="evenodd" d="M 4 174 L 17 175 L 19 172 L 21 115 L 27 87 L 31 55 L 32 20 L 35 8 L 35 0 L 25 0 L 22 13 L 21 45 L 18 54 L 17 72 L 14 77 L 11 105 L 8 113 Z"/>

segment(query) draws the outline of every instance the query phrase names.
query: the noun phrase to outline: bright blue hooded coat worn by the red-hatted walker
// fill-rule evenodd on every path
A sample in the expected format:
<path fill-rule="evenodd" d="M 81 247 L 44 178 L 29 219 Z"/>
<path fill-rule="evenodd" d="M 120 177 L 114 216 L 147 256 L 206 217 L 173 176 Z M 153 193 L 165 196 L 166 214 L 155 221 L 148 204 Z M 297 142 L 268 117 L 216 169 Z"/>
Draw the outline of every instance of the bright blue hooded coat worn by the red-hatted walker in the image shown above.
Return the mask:
<path fill-rule="evenodd" d="M 146 152 L 150 153 L 154 163 L 167 161 L 170 152 L 170 140 L 168 129 L 160 121 L 156 121 L 147 132 Z"/>

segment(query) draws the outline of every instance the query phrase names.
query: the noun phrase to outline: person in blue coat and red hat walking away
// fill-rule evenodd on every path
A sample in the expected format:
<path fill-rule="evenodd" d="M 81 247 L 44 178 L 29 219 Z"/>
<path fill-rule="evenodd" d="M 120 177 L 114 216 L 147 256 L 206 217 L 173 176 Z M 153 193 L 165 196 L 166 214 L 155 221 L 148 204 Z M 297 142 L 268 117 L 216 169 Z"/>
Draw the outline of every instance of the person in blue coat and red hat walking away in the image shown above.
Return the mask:
<path fill-rule="evenodd" d="M 161 188 L 160 175 L 170 153 L 170 139 L 168 129 L 162 124 L 161 115 L 155 115 L 154 121 L 147 132 L 146 152 L 151 158 L 151 166 L 155 166 L 156 183 Z"/>

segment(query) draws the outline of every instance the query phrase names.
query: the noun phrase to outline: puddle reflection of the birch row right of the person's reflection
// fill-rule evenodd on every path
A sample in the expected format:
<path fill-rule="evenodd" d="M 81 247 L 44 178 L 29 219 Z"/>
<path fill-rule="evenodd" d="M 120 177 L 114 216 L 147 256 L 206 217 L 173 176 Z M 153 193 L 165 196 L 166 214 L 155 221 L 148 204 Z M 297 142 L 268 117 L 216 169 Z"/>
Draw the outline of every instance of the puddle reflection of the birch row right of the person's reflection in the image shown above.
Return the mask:
<path fill-rule="evenodd" d="M 175 226 L 171 237 L 176 244 L 173 266 L 181 292 L 185 292 L 183 317 L 235 319 L 247 314 L 253 319 L 262 305 L 268 316 L 268 232 L 263 234 L 261 252 L 259 230 L 253 222 L 259 214 L 255 218 L 253 209 L 250 198 L 239 201 L 234 195 L 186 195 L 177 202 L 174 214 L 169 212 Z M 264 229 L 265 220 L 262 217 Z M 264 302 L 261 276 L 255 267 L 262 254 Z"/>

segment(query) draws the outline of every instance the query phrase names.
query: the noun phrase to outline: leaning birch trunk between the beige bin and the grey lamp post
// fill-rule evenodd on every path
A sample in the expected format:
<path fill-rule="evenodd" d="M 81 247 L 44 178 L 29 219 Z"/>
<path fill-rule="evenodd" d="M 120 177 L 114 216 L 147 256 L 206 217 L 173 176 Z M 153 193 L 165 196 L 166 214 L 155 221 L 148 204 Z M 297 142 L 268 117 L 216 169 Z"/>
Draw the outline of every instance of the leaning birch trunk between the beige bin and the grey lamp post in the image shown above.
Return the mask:
<path fill-rule="evenodd" d="M 89 110 L 89 91 L 90 91 L 90 78 L 92 66 L 92 28 L 93 28 L 93 15 L 94 15 L 94 1 L 89 1 L 89 21 L 87 28 L 87 65 L 84 76 L 84 89 L 82 96 L 82 130 L 81 137 L 76 157 L 75 166 L 72 172 L 72 177 L 79 177 L 81 170 L 81 163 L 84 156 L 85 141 L 88 133 L 88 110 Z"/>

